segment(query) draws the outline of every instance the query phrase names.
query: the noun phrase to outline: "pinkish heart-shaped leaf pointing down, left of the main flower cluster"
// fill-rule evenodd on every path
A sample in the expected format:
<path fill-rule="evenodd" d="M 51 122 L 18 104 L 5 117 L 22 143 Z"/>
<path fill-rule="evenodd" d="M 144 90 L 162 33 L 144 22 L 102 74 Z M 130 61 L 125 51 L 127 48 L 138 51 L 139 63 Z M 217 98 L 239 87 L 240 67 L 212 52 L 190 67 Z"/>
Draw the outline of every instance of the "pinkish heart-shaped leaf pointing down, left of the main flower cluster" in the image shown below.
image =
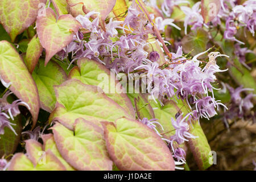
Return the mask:
<path fill-rule="evenodd" d="M 55 53 L 61 51 L 79 31 L 81 24 L 72 15 L 56 15 L 51 8 L 46 9 L 46 16 L 38 16 L 36 30 L 43 48 L 46 49 L 46 64 Z"/>

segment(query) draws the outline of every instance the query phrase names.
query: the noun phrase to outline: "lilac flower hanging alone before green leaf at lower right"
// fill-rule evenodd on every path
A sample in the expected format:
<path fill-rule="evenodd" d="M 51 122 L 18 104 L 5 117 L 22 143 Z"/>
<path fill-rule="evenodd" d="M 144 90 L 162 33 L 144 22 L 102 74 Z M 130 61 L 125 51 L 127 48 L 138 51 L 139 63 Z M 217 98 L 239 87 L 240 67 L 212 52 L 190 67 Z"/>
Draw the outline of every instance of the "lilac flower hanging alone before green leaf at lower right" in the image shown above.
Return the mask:
<path fill-rule="evenodd" d="M 175 129 L 175 135 L 171 137 L 171 140 L 176 141 L 178 144 L 181 144 L 184 141 L 188 141 L 185 138 L 197 138 L 191 133 L 188 133 L 189 125 L 187 122 L 184 122 L 185 119 L 189 116 L 189 114 L 185 115 L 185 117 L 183 118 L 182 113 L 179 117 L 177 117 L 176 120 L 174 118 L 171 118 L 172 126 L 174 126 Z"/>

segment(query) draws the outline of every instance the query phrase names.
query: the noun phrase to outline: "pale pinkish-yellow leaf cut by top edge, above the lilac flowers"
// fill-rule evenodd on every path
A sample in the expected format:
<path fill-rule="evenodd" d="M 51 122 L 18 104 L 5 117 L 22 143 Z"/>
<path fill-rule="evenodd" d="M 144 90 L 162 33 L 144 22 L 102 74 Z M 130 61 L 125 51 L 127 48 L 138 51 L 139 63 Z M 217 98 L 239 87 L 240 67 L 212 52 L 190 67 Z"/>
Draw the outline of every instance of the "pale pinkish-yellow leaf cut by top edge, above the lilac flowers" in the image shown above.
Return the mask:
<path fill-rule="evenodd" d="M 82 7 L 84 13 L 88 13 L 89 11 L 96 11 L 100 13 L 100 24 L 102 28 L 105 28 L 104 22 L 106 16 L 112 11 L 115 6 L 116 0 L 67 0 L 68 5 L 71 6 L 79 6 Z M 81 4 L 83 6 L 81 6 Z"/>

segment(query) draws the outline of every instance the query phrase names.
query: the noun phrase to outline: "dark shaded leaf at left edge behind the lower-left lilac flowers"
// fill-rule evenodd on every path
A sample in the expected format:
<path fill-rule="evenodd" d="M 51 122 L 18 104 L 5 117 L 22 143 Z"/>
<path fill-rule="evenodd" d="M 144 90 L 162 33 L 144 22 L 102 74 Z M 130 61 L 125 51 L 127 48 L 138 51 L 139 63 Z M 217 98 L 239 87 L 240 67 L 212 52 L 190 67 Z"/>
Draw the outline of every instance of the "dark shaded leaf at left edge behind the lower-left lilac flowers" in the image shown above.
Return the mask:
<path fill-rule="evenodd" d="M 20 134 L 22 132 L 21 118 L 18 115 L 14 117 L 14 121 L 10 120 L 10 122 L 15 124 L 13 125 L 13 129 L 18 135 L 15 135 L 9 127 L 5 127 L 5 134 L 0 135 L 0 158 L 2 158 L 3 155 L 8 156 L 13 154 L 19 144 Z"/>

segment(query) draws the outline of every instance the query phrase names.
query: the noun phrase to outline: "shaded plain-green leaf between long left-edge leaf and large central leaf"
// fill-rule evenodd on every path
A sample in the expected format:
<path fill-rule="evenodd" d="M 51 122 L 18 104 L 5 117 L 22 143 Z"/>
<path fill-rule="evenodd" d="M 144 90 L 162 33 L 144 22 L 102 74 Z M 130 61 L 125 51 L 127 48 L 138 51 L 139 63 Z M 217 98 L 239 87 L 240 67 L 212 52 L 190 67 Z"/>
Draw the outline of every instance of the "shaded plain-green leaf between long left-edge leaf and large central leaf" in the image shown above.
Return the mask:
<path fill-rule="evenodd" d="M 40 59 L 38 67 L 32 73 L 38 87 L 40 106 L 51 113 L 56 104 L 56 96 L 53 86 L 62 84 L 67 80 L 64 70 L 55 61 L 44 66 L 44 60 Z"/>

